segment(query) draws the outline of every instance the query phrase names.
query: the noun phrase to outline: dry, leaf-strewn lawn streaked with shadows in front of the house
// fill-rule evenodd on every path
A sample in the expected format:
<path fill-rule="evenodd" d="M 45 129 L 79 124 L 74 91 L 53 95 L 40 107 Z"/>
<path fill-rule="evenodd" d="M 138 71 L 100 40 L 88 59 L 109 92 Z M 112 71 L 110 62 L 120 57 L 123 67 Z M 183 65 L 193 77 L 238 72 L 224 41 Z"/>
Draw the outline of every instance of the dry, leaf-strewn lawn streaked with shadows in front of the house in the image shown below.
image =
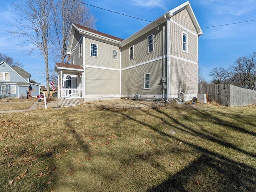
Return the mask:
<path fill-rule="evenodd" d="M 0 191 L 256 191 L 256 106 L 134 103 L 0 114 Z"/>

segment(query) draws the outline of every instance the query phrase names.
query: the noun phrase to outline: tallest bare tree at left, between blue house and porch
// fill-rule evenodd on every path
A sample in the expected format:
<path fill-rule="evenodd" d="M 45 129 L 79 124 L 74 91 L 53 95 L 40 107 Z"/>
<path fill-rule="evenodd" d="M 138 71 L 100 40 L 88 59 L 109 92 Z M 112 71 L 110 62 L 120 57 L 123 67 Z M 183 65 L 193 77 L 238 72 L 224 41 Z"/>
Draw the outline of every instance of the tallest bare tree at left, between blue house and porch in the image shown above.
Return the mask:
<path fill-rule="evenodd" d="M 49 69 L 48 56 L 51 42 L 51 26 L 52 26 L 52 5 L 53 0 L 25 0 L 19 3 L 14 3 L 14 8 L 18 13 L 14 25 L 18 30 L 13 31 L 12 34 L 26 37 L 23 44 L 33 44 L 29 53 L 39 50 L 44 56 L 45 71 L 46 71 L 46 87 L 48 96 L 50 94 L 49 88 Z"/>

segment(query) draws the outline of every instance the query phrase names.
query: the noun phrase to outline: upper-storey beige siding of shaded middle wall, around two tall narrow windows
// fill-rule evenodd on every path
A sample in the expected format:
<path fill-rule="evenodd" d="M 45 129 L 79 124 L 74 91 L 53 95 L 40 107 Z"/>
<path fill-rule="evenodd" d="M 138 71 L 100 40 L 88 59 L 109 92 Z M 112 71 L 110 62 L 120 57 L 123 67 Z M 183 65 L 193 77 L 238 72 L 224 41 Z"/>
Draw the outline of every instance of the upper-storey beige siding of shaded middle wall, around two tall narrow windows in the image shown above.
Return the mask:
<path fill-rule="evenodd" d="M 166 22 L 164 24 L 166 25 Z M 157 25 L 156 25 L 156 28 L 157 28 Z M 161 24 L 159 26 L 159 31 L 156 28 L 150 30 L 146 34 L 143 34 L 136 40 L 122 47 L 122 68 L 126 68 L 135 64 L 139 64 L 141 62 L 152 60 L 154 58 L 158 58 L 163 55 L 163 48 L 162 48 L 163 25 Z M 166 26 L 165 26 L 165 33 L 166 33 Z M 148 53 L 148 36 L 150 36 L 151 34 L 154 34 L 154 51 Z M 166 37 L 166 34 L 165 34 L 165 37 Z M 129 48 L 133 45 L 134 45 L 134 59 L 129 61 Z M 166 45 L 166 38 L 165 38 L 165 45 Z"/>

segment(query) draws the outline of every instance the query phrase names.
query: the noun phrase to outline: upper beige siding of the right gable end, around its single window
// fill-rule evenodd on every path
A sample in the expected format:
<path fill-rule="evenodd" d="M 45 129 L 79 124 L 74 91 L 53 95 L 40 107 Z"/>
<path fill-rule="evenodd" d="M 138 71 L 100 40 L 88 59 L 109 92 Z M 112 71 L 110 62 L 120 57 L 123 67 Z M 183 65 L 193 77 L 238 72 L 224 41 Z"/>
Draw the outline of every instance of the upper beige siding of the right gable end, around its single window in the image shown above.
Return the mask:
<path fill-rule="evenodd" d="M 196 35 L 196 31 L 193 30 L 194 26 L 188 15 L 188 12 L 186 11 L 186 9 L 182 10 L 181 12 L 173 16 L 171 20 L 176 21 L 178 24 L 184 26 L 188 30 L 185 30 L 184 28 L 170 21 L 170 54 L 180 58 L 198 62 L 198 36 Z M 183 52 L 182 50 L 182 32 L 186 32 L 188 34 L 187 53 Z"/>

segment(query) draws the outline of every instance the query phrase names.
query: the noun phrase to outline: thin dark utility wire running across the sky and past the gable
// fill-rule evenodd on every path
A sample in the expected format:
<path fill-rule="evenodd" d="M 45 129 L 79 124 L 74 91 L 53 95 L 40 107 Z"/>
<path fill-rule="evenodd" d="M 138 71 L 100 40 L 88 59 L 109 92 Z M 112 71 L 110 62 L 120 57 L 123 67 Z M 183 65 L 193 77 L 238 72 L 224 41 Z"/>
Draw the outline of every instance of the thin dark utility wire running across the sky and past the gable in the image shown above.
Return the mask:
<path fill-rule="evenodd" d="M 149 20 L 137 18 L 137 17 L 130 16 L 130 15 L 126 15 L 126 14 L 122 14 L 122 13 L 118 13 L 118 12 L 115 12 L 115 11 L 111 11 L 111 10 L 108 10 L 108 9 L 104 9 L 104 8 L 101 8 L 101 7 L 97 7 L 97 6 L 94 6 L 94 5 L 90 5 L 90 4 L 87 4 L 87 3 L 84 3 L 84 2 L 80 2 L 80 1 L 78 1 L 78 0 L 73 0 L 73 1 L 78 2 L 78 3 L 82 3 L 82 4 L 84 4 L 84 5 L 92 6 L 92 7 L 95 7 L 95 8 L 99 8 L 99 9 L 102 9 L 102 10 L 105 10 L 105 11 L 109 11 L 109 12 L 112 12 L 112 13 L 116 13 L 116 14 L 120 14 L 120 15 L 123 15 L 123 16 L 127 16 L 127 17 L 130 17 L 130 18 L 134 18 L 134 19 L 138 19 L 138 20 L 142 20 L 142 21 L 146 21 L 146 22 L 150 22 L 150 23 L 156 23 L 156 24 L 159 25 L 159 23 L 157 23 L 157 22 L 153 22 L 153 21 L 149 21 Z M 215 25 L 215 26 L 209 26 L 209 27 L 202 27 L 201 29 L 213 28 L 213 27 L 220 27 L 220 26 L 227 26 L 227 25 L 233 25 L 233 24 L 239 24 L 239 23 L 246 23 L 246 22 L 252 22 L 252 21 L 256 21 L 256 19 L 254 19 L 254 20 L 248 20 L 248 21 L 242 21 L 242 22 L 236 22 L 236 23 L 228 23 L 228 24 L 222 24 L 222 25 Z M 196 28 L 194 28 L 194 29 L 196 29 Z M 194 29 L 190 29 L 190 30 L 194 30 Z M 199 28 L 198 28 L 198 29 L 199 29 Z M 180 32 L 180 31 L 172 31 L 172 32 Z"/>

